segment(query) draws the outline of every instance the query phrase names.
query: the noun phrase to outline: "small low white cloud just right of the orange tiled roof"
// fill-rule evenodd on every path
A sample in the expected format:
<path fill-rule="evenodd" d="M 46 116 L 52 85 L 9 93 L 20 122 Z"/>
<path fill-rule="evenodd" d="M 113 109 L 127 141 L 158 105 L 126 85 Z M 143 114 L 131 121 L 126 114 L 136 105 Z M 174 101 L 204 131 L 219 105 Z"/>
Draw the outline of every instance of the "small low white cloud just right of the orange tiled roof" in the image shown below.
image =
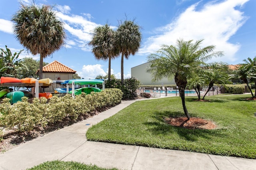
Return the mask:
<path fill-rule="evenodd" d="M 83 65 L 82 71 L 78 75 L 84 79 L 95 79 L 97 75 L 105 76 L 107 73 L 102 69 L 102 65 Z"/>

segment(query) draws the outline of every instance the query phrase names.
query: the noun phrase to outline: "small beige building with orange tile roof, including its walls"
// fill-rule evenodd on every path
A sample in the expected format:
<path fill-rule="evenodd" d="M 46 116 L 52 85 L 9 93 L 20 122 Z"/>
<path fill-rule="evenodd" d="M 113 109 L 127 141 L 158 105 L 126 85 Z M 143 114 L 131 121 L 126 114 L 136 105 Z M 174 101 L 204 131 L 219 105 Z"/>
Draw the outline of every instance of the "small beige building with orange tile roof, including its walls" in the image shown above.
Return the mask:
<path fill-rule="evenodd" d="M 38 74 L 39 70 L 36 73 Z M 69 80 L 72 79 L 72 75 L 75 73 L 75 70 L 54 60 L 52 63 L 49 63 L 43 67 L 42 78 L 49 78 L 52 80 Z"/>

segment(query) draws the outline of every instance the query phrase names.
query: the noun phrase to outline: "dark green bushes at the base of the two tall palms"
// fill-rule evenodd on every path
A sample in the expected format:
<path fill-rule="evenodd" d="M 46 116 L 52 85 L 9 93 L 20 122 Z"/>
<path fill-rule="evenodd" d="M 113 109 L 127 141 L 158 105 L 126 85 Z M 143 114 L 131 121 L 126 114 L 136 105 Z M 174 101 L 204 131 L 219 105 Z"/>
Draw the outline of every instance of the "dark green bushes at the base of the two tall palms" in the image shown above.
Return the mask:
<path fill-rule="evenodd" d="M 106 88 L 117 88 L 123 92 L 123 100 L 132 100 L 137 97 L 136 90 L 140 85 L 140 81 L 134 77 L 124 79 L 124 85 L 121 85 L 120 79 L 111 79 L 105 81 Z"/>

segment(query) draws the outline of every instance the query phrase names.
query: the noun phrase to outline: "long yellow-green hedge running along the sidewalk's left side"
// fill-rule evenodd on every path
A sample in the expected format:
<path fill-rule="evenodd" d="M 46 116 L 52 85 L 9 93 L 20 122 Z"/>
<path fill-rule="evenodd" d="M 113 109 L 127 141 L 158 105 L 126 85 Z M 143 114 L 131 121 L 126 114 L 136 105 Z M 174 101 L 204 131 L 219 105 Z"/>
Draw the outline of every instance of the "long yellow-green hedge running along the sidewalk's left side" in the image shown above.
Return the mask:
<path fill-rule="evenodd" d="M 114 106 L 121 102 L 120 89 L 105 89 L 91 95 L 71 95 L 58 97 L 54 95 L 50 101 L 45 97 L 35 98 L 33 103 L 28 103 L 28 98 L 23 97 L 13 105 L 8 98 L 0 104 L 0 128 L 8 128 L 19 132 L 33 130 L 35 126 L 45 127 L 51 123 L 71 119 L 76 121 L 79 116 L 92 115 L 106 107 Z"/>

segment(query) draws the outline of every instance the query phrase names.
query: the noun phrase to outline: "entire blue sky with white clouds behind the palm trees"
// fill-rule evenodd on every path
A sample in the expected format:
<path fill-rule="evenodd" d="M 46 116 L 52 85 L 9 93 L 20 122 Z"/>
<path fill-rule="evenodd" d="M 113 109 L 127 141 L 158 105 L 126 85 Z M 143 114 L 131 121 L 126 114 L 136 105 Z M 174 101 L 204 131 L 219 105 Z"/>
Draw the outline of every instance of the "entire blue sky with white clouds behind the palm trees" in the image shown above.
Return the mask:
<path fill-rule="evenodd" d="M 10 21 L 19 2 L 31 4 L 31 0 L 0 1 L 0 48 L 7 45 L 12 52 L 24 49 L 14 38 Z M 66 45 L 44 61 L 57 60 L 83 78 L 108 73 L 108 61 L 96 60 L 87 45 L 93 29 L 106 23 L 116 29 L 118 21 L 126 18 L 135 18 L 142 27 L 142 42 L 138 53 L 124 60 L 125 78 L 162 44 L 175 45 L 179 38 L 204 39 L 202 47 L 216 45 L 216 51 L 224 51 L 224 57 L 211 61 L 237 64 L 256 55 L 256 0 L 36 0 L 36 4 L 54 5 L 67 34 Z M 20 57 L 39 60 L 29 51 Z M 120 66 L 121 57 L 112 60 L 111 71 L 117 78 Z"/>

